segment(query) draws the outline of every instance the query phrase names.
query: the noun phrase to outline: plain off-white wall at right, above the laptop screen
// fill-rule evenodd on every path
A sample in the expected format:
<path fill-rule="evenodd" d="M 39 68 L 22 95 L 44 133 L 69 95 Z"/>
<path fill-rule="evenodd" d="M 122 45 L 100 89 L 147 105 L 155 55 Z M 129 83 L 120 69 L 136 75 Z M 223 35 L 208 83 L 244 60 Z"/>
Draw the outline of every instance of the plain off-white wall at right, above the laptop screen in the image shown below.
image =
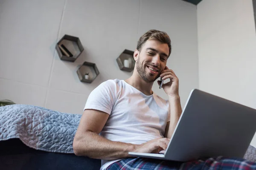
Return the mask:
<path fill-rule="evenodd" d="M 203 0 L 197 18 L 199 88 L 256 109 L 252 0 Z"/>

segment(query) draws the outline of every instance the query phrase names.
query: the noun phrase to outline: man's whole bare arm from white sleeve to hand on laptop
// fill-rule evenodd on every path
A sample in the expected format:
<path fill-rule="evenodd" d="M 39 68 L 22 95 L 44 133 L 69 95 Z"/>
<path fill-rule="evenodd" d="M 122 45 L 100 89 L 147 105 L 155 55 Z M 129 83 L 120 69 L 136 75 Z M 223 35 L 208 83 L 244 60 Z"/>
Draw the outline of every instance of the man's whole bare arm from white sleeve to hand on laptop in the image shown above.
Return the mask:
<path fill-rule="evenodd" d="M 108 117 L 109 114 L 102 111 L 84 111 L 73 141 L 73 149 L 77 156 L 106 160 L 120 159 L 131 157 L 128 152 L 157 152 L 159 147 L 166 149 L 169 143 L 166 138 L 154 139 L 140 145 L 105 139 L 99 136 L 99 133 Z"/>

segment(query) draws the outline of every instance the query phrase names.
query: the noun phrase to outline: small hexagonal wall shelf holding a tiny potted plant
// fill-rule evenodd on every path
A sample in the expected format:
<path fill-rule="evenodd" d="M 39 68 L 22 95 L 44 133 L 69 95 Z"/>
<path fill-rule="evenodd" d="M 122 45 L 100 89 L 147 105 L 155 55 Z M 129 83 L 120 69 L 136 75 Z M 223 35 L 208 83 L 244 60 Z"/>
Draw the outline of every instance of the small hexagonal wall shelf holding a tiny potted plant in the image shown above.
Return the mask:
<path fill-rule="evenodd" d="M 81 82 L 91 83 L 99 75 L 99 70 L 95 63 L 84 62 L 76 73 Z"/>

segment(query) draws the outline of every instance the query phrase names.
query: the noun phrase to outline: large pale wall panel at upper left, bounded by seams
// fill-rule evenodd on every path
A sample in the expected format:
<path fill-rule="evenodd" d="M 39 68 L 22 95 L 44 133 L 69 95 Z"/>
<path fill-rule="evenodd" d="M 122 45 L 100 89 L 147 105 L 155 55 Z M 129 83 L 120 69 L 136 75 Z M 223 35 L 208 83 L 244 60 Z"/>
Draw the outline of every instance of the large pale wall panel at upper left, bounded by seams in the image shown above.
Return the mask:
<path fill-rule="evenodd" d="M 48 87 L 64 0 L 4 0 L 0 77 Z"/>

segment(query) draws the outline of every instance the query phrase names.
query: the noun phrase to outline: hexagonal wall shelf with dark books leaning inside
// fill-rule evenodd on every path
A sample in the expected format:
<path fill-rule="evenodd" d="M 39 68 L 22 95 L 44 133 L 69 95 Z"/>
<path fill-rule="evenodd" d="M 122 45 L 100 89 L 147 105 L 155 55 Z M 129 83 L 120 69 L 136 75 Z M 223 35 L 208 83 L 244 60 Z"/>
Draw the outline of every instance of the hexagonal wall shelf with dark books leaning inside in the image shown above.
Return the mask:
<path fill-rule="evenodd" d="M 56 50 L 60 59 L 74 62 L 84 48 L 78 37 L 64 35 L 56 44 Z"/>

